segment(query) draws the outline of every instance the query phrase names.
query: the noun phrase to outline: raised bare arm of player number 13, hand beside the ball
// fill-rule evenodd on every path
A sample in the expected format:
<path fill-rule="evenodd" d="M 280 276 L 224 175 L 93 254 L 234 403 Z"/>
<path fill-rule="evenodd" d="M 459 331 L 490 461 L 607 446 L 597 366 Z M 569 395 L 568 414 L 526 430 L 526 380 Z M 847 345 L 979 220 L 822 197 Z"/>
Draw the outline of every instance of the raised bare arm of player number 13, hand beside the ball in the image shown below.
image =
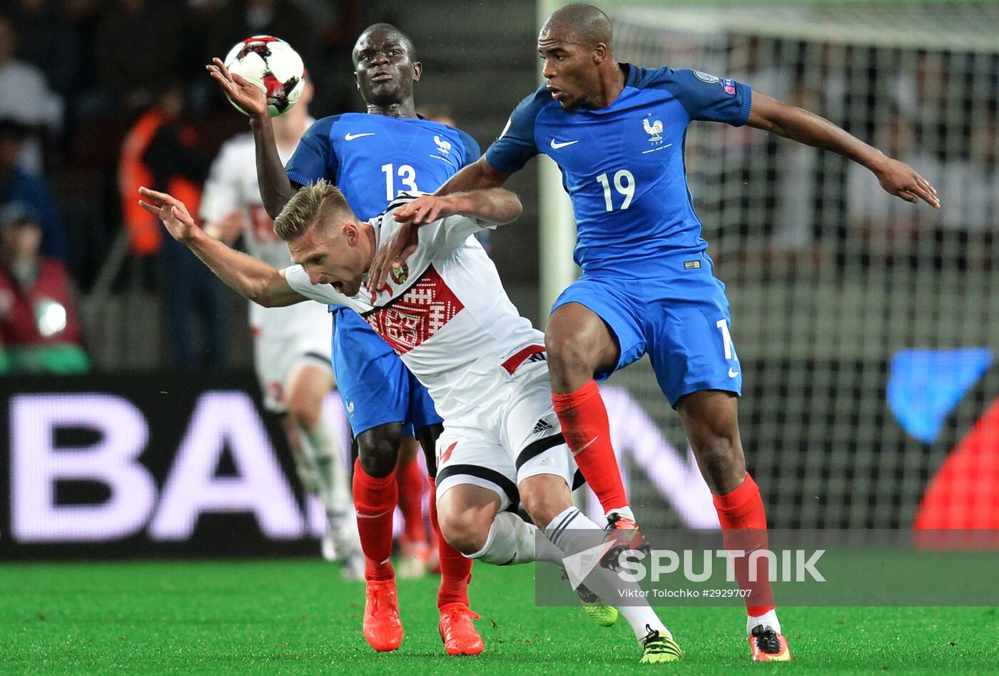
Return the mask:
<path fill-rule="evenodd" d="M 274 139 L 274 125 L 267 112 L 267 95 L 241 75 L 230 73 L 222 59 L 212 59 L 205 66 L 212 78 L 219 83 L 236 105 L 250 116 L 250 129 L 253 130 L 254 148 L 257 154 L 257 180 L 260 184 L 260 197 L 268 216 L 277 218 L 281 210 L 295 194 L 295 188 L 288 179 L 285 165 L 278 155 L 278 142 Z"/>

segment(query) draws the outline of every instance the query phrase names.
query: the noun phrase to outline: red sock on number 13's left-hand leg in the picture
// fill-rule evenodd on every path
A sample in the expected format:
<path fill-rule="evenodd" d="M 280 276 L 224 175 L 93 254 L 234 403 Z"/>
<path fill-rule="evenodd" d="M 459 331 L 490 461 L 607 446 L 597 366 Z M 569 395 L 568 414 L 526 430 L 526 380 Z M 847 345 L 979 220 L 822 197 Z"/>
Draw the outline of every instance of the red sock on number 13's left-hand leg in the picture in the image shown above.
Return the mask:
<path fill-rule="evenodd" d="M 396 577 L 392 556 L 392 520 L 399 500 L 396 470 L 375 478 L 354 463 L 354 507 L 358 511 L 361 549 L 365 553 L 365 579 L 391 580 Z"/>

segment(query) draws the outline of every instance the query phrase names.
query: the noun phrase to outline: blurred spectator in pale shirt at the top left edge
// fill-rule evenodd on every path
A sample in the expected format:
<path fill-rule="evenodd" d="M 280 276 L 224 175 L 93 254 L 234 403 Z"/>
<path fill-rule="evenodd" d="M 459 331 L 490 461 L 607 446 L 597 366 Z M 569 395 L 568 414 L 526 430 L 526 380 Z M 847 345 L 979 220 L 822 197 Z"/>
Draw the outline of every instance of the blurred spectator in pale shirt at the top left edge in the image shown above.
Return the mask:
<path fill-rule="evenodd" d="M 54 138 L 62 129 L 62 98 L 49 89 L 41 70 L 15 58 L 17 32 L 10 18 L 0 15 L 0 118 L 20 123 L 32 132 Z M 34 133 L 24 139 L 18 164 L 33 174 L 41 174 L 41 140 Z"/>

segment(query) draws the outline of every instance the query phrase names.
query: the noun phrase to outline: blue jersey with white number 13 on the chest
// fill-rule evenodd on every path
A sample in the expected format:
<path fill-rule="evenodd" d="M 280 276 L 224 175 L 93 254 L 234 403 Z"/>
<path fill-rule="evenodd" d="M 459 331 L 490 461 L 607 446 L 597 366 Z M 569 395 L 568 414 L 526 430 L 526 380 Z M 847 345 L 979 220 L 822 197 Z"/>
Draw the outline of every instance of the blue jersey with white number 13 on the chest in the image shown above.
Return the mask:
<path fill-rule="evenodd" d="M 310 127 L 286 170 L 301 185 L 332 181 L 368 220 L 400 192 L 434 192 L 479 156 L 475 139 L 439 122 L 347 113 Z"/>

